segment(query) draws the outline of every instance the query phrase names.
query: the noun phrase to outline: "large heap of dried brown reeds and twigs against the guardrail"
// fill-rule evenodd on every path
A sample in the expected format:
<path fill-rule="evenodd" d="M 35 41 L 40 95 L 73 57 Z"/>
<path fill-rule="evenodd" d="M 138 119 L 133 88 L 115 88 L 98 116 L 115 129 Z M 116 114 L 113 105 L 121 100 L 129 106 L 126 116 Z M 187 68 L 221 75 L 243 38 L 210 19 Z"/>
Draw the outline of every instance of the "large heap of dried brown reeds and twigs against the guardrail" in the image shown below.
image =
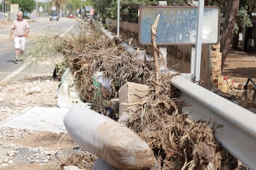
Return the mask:
<path fill-rule="evenodd" d="M 119 39 L 109 39 L 96 22 L 81 24 L 79 37 L 62 38 L 55 44 L 64 56 L 63 65 L 57 65 L 59 77 L 63 67 L 70 67 L 77 91 L 92 109 L 106 115 L 106 108 L 118 101 L 118 90 L 127 82 L 145 84 L 150 93 L 127 109 L 126 125 L 137 132 L 152 148 L 158 160 L 158 169 L 239 169 L 241 162 L 229 154 L 213 136 L 219 125 L 210 127 L 208 121 L 194 121 L 182 113 L 184 102 L 177 102 L 179 91 L 170 83 L 175 73 L 163 72 L 160 84 L 155 81 L 152 61 L 139 60 L 118 45 Z M 95 74 L 102 72 L 110 79 L 111 91 L 98 86 Z M 119 118 L 115 110 L 113 119 Z M 90 169 L 95 155 L 71 155 L 65 165 Z"/>

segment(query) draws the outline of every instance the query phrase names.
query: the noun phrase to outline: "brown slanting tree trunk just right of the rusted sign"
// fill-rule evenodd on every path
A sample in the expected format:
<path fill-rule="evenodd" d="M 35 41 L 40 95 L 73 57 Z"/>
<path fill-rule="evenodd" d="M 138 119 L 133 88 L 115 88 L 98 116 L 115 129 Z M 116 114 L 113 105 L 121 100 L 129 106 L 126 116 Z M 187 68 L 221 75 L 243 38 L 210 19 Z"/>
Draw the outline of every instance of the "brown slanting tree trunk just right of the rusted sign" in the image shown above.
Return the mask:
<path fill-rule="evenodd" d="M 233 35 L 234 24 L 236 23 L 237 10 L 239 7 L 240 0 L 227 0 L 226 13 L 224 14 L 223 32 L 221 33 L 220 45 L 221 45 L 221 72 L 223 71 L 224 62 L 226 60 L 229 45 Z M 227 23 L 227 24 L 226 24 Z"/>

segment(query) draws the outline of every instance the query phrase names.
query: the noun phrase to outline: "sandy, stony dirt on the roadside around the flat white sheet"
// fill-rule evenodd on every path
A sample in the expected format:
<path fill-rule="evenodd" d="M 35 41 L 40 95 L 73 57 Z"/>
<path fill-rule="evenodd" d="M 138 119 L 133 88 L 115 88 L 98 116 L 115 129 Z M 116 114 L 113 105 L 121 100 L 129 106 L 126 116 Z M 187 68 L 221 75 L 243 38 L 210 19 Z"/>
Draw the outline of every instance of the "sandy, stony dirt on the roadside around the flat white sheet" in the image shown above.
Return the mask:
<path fill-rule="evenodd" d="M 33 74 L 20 79 L 0 88 L 0 123 L 35 106 L 57 105 L 58 80 L 48 74 Z M 68 134 L 0 127 L 0 169 L 56 167 L 60 160 L 64 160 L 60 154 L 74 147 L 76 145 Z M 69 155 L 65 153 L 64 157 Z"/>

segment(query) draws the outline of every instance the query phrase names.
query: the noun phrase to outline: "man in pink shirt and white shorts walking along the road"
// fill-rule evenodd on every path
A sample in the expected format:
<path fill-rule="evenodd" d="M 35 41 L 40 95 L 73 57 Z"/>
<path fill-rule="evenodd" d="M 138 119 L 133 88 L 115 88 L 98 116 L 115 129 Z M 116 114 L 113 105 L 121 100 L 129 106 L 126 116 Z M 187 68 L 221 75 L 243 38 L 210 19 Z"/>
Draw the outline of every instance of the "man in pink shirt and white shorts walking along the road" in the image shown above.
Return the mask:
<path fill-rule="evenodd" d="M 29 33 L 29 24 L 27 20 L 23 19 L 23 12 L 19 11 L 17 14 L 17 20 L 12 22 L 10 39 L 15 43 L 15 61 L 19 63 L 23 59 L 23 53 L 25 50 L 26 38 Z M 19 58 L 20 51 L 20 58 Z"/>

